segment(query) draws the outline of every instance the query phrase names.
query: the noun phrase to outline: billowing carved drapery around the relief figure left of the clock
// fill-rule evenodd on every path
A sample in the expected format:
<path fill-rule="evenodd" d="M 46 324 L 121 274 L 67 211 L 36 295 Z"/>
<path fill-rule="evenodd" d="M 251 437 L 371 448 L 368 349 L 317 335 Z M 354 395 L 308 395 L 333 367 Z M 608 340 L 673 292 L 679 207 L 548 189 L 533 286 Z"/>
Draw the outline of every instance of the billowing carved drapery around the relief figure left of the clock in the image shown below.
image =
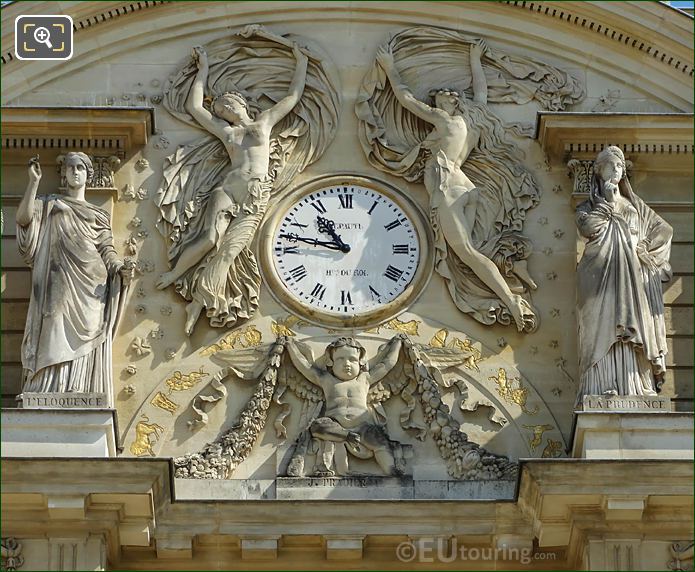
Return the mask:
<path fill-rule="evenodd" d="M 206 93 L 243 93 L 252 112 L 258 113 L 287 95 L 296 66 L 292 54 L 295 40 L 306 46 L 309 54 L 304 91 L 294 109 L 273 129 L 267 177 L 249 183 L 249 193 L 260 193 L 265 202 L 252 198 L 248 204 L 235 205 L 234 212 L 229 213 L 232 220 L 227 230 L 218 233 L 214 251 L 176 281 L 176 290 L 185 299 L 204 305 L 213 326 L 233 326 L 239 318 L 250 317 L 258 306 L 261 277 L 249 249 L 251 240 L 270 193 L 285 189 L 297 173 L 322 155 L 332 140 L 338 126 L 340 92 L 330 59 L 305 38 L 280 38 L 252 26 L 206 46 L 210 62 Z M 181 121 L 199 127 L 185 110 L 196 73 L 196 65 L 191 62 L 172 78 L 165 89 L 163 105 Z M 160 210 L 158 228 L 167 238 L 172 266 L 203 230 L 210 192 L 222 186 L 229 168 L 227 151 L 211 136 L 179 147 L 167 158 L 156 203 Z M 243 217 L 237 217 L 239 213 Z M 245 219 L 243 223 L 241 218 Z M 230 252 L 235 256 L 230 257 Z M 229 261 L 228 269 L 222 268 L 223 261 Z M 218 274 L 226 276 L 227 283 L 221 284 L 205 267 L 216 267 Z M 209 280 L 201 282 L 205 276 Z M 214 288 L 211 280 L 216 283 Z"/>

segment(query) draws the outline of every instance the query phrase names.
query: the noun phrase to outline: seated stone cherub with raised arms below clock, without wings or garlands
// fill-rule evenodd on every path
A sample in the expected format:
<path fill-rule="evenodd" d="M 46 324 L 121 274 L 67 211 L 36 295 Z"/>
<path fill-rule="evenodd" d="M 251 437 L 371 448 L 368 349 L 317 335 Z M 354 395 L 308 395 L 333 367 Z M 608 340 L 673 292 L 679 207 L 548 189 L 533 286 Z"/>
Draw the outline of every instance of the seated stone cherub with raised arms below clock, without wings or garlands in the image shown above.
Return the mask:
<path fill-rule="evenodd" d="M 316 474 L 348 474 L 347 455 L 340 449 L 335 455 L 340 445 L 362 459 L 373 455 L 386 475 L 403 474 L 407 448 L 389 438 L 369 404 L 373 386 L 396 365 L 401 344 L 400 336 L 393 338 L 385 351 L 367 362 L 362 344 L 354 338 L 338 338 L 326 347 L 323 363 L 312 363 L 288 338 L 286 347 L 292 363 L 305 379 L 321 388 L 325 399 L 325 411 L 309 425 L 311 436 L 322 442 Z M 334 460 L 336 471 L 331 468 Z M 300 463 L 295 453 L 288 472 L 298 471 Z"/>

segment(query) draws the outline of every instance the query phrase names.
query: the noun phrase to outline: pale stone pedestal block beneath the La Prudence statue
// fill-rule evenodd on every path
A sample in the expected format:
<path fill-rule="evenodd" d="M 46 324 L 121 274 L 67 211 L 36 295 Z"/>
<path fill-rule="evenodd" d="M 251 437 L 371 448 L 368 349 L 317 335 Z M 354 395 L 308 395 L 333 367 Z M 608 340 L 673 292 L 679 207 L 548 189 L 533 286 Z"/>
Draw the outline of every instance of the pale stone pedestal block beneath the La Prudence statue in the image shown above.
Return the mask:
<path fill-rule="evenodd" d="M 692 459 L 693 414 L 577 412 L 572 456 L 582 459 Z"/>

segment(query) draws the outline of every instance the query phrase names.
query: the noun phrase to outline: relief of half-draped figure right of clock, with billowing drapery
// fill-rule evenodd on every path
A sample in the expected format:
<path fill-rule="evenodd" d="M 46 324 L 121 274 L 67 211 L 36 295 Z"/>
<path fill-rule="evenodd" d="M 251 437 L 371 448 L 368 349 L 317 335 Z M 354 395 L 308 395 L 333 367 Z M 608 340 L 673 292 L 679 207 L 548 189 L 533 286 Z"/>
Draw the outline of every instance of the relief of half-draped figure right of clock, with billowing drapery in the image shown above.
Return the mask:
<path fill-rule="evenodd" d="M 363 80 L 355 109 L 367 158 L 424 183 L 435 270 L 456 306 L 484 324 L 538 325 L 527 299 L 532 245 L 521 231 L 539 190 L 488 101 L 561 109 L 582 96 L 560 70 L 434 28 L 393 36 Z"/>

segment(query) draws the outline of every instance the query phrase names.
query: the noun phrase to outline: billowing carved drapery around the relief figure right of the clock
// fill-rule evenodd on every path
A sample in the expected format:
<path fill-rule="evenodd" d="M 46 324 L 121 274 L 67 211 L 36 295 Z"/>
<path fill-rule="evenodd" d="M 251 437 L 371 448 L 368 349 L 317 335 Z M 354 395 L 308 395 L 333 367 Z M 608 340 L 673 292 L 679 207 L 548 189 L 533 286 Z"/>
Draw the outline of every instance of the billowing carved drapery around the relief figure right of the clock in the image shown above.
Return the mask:
<path fill-rule="evenodd" d="M 480 131 L 479 144 L 462 167 L 478 193 L 472 243 L 495 262 L 509 287 L 520 291 L 523 286 L 512 269 L 515 261 L 531 254 L 531 243 L 521 231 L 526 211 L 538 203 L 539 191 L 521 165 L 520 152 L 506 141 L 502 122 L 487 105 L 473 101 L 470 46 L 478 42 L 459 32 L 418 27 L 393 36 L 389 51 L 416 99 L 427 102 L 437 88 L 466 94 L 461 115 L 469 130 Z M 535 100 L 546 109 L 563 109 L 584 95 L 572 76 L 528 58 L 486 49 L 481 64 L 490 103 Z M 422 179 L 429 164 L 436 163 L 434 170 L 442 184 L 447 172 L 456 168 L 452 158 L 431 156 L 427 136 L 432 126 L 401 106 L 377 64 L 362 82 L 355 111 L 360 119 L 360 142 L 374 167 L 415 182 Z M 432 196 L 431 200 L 435 269 L 445 279 L 456 306 L 484 324 L 509 324 L 512 318 L 507 307 L 447 244 L 440 230 L 437 199 Z M 534 327 L 535 323 L 529 324 L 529 329 Z"/>

